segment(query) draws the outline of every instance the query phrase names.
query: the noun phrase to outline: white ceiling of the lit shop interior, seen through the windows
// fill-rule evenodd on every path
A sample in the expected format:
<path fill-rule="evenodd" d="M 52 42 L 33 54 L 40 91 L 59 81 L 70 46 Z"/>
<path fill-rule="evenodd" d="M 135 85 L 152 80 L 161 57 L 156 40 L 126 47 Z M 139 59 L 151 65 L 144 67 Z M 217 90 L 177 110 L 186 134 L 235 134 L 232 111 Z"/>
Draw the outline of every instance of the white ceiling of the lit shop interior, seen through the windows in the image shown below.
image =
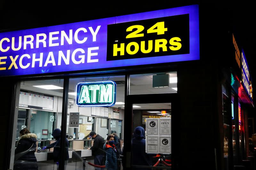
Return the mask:
<path fill-rule="evenodd" d="M 168 87 L 153 88 L 153 75 L 164 73 L 149 73 L 149 74 L 137 74 L 130 76 L 130 94 L 154 94 L 154 93 L 177 93 L 172 88 L 177 88 L 177 83 L 169 83 Z M 166 72 L 170 75 L 170 78 L 177 77 L 177 72 Z M 69 92 L 76 92 L 76 85 L 81 82 L 97 82 L 111 80 L 116 82 L 116 102 L 124 102 L 124 83 L 125 76 L 105 76 L 105 77 L 81 77 L 69 79 Z M 63 89 L 46 90 L 34 85 L 56 85 L 63 87 L 63 79 L 51 79 L 51 80 L 33 80 L 22 81 L 20 83 L 20 89 L 33 91 L 37 93 L 49 94 L 54 96 L 63 96 Z M 68 95 L 70 99 L 76 99 L 74 95 Z M 170 109 L 170 103 L 157 103 L 157 104 L 134 104 L 140 107 L 134 107 L 134 109 Z M 124 109 L 124 104 L 116 104 L 113 107 L 121 107 Z"/>

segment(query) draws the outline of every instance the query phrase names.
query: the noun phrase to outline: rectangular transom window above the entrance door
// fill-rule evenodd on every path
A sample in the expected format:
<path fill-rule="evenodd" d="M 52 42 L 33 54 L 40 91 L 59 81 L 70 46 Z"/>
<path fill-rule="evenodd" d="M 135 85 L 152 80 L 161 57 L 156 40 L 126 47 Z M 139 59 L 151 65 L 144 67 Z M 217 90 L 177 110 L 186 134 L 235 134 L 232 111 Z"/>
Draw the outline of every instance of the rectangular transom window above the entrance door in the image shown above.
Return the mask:
<path fill-rule="evenodd" d="M 177 72 L 134 74 L 130 94 L 177 93 Z"/>

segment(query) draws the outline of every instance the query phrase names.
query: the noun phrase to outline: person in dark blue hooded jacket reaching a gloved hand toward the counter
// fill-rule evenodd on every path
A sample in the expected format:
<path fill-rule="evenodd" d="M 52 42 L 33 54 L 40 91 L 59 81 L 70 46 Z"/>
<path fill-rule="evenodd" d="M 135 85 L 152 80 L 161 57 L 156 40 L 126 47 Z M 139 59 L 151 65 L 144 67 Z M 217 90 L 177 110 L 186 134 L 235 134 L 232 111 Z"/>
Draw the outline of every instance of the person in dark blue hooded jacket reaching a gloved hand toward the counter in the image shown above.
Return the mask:
<path fill-rule="evenodd" d="M 56 139 L 56 142 L 49 144 L 48 146 L 44 146 L 43 149 L 49 149 L 53 147 L 53 160 L 54 162 L 56 162 L 57 164 L 57 170 L 59 169 L 59 162 L 60 162 L 60 134 L 61 134 L 61 130 L 60 129 L 54 129 L 52 131 L 52 136 Z M 66 138 L 66 142 L 65 142 L 65 169 L 67 168 L 67 164 L 68 164 L 68 159 L 69 159 L 69 155 L 68 155 L 68 139 Z"/>

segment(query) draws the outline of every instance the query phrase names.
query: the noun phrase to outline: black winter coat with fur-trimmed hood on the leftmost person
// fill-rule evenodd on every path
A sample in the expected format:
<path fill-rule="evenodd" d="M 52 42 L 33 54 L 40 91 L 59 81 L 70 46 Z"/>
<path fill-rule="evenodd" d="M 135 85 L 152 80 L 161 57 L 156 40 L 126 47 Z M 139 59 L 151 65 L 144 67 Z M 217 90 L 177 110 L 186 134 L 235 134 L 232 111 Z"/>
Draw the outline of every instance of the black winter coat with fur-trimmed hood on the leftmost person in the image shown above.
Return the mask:
<path fill-rule="evenodd" d="M 14 169 L 15 170 L 37 170 L 37 162 L 36 162 L 36 134 L 27 133 L 22 135 L 18 141 L 17 147 L 15 149 L 15 159 Z M 31 147 L 32 146 L 32 147 Z M 31 148 L 30 148 L 31 147 Z M 34 149 L 34 151 L 27 152 L 25 154 L 19 154 L 20 152 L 28 151 L 30 148 Z M 17 156 L 20 156 L 19 158 Z M 28 162 L 21 162 L 28 161 Z"/>

